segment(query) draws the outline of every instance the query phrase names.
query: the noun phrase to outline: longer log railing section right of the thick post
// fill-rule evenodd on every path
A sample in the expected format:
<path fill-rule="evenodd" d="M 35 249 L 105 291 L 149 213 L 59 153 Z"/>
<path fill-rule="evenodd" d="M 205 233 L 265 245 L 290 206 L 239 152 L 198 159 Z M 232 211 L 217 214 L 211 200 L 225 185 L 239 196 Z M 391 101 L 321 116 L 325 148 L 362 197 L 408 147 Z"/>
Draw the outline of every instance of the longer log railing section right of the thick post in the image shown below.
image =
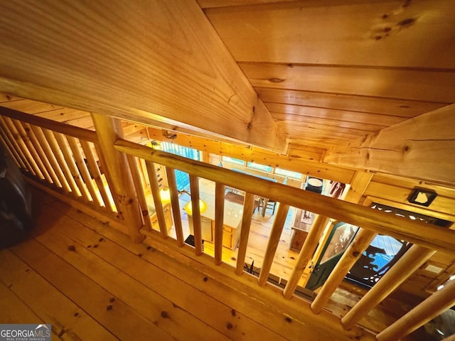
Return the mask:
<path fill-rule="evenodd" d="M 299 283 L 299 278 L 306 266 L 309 265 L 308 263 L 311 259 L 311 255 L 314 254 L 319 238 L 323 233 L 323 229 L 330 219 L 348 222 L 362 227 L 354 242 L 343 254 L 343 257 L 338 262 L 336 268 L 333 269 L 331 276 L 323 285 L 321 291 L 319 291 L 314 302 L 311 303 L 311 310 L 313 310 L 315 314 L 321 312 L 331 294 L 339 286 L 360 254 L 368 247 L 371 240 L 375 237 L 375 234 L 386 234 L 397 239 L 404 239 L 414 243 L 414 247 L 410 250 L 410 256 L 402 257 L 402 259 L 400 259 L 392 268 L 392 270 L 397 270 L 391 270 L 386 276 L 380 279 L 370 291 L 371 294 L 365 295 L 365 297 L 359 301 L 359 308 L 357 308 L 357 305 L 354 305 L 351 310 L 352 313 L 348 313 L 346 317 L 341 320 L 343 327 L 346 329 L 352 328 L 360 318 L 367 315 L 375 305 L 380 303 L 382 299 L 392 292 L 393 288 L 397 288 L 405 278 L 409 277 L 417 270 L 419 266 L 434 253 L 434 251 L 442 251 L 446 254 L 455 253 L 455 231 L 451 229 L 442 229 L 441 227 L 436 227 L 431 224 L 388 215 L 385 212 L 372 210 L 369 207 L 355 205 L 350 202 L 318 195 L 298 188 L 290 188 L 289 186 L 280 183 L 272 183 L 254 176 L 237 173 L 225 168 L 219 168 L 208 163 L 189 160 L 122 139 L 117 140 L 114 147 L 117 151 L 127 153 L 130 157 L 134 156 L 144 159 L 147 163 L 147 169 L 149 170 L 151 179 L 156 178 L 153 171 L 151 171 L 154 169 L 154 163 L 166 166 L 168 179 L 171 179 L 169 181 L 169 190 L 171 192 L 174 222 L 176 222 L 176 235 L 178 236 L 177 244 L 180 247 L 183 246 L 183 232 L 179 213 L 181 208 L 178 202 L 178 192 L 175 180 L 173 180 L 173 170 L 178 169 L 180 171 L 185 171 L 190 175 L 196 257 L 202 254 L 198 178 L 205 178 L 215 182 L 214 263 L 216 265 L 221 264 L 220 254 L 223 244 L 223 203 L 225 186 L 237 188 L 245 192 L 239 251 L 237 255 L 237 266 L 235 268 L 235 274 L 237 275 L 241 275 L 244 272 L 245 254 L 251 223 L 250 212 L 255 195 L 268 197 L 271 200 L 279 202 L 280 205 L 277 215 L 274 218 L 267 249 L 264 252 L 264 260 L 258 279 L 259 286 L 264 286 L 267 282 L 269 270 L 274 259 L 275 251 L 277 250 L 279 236 L 282 233 L 289 206 L 298 207 L 319 214 L 319 218 L 314 222 L 314 226 L 300 251 L 299 259 L 296 262 L 291 278 L 289 278 L 287 286 L 284 288 L 284 298 L 291 298 L 294 295 L 297 284 Z M 153 180 L 151 180 L 151 182 L 153 183 Z M 156 210 L 157 214 L 161 215 L 163 212 L 161 205 L 159 205 L 159 188 L 156 185 L 152 185 L 152 194 L 158 199 L 156 200 L 156 203 L 158 203 L 158 205 L 156 205 Z M 160 229 L 160 237 L 164 239 L 168 238 L 166 225 L 164 223 L 161 224 L 160 222 Z M 142 229 L 142 232 L 147 236 L 154 237 L 159 234 L 151 229 Z M 418 256 L 414 257 L 413 255 L 416 252 Z M 441 302 L 443 301 L 444 305 L 441 305 Z M 400 337 L 408 335 L 410 332 L 426 323 L 429 319 L 434 318 L 435 315 L 442 313 L 454 304 L 454 284 L 451 284 L 451 286 L 447 286 L 447 288 L 444 288 L 440 293 L 430 296 L 422 305 L 417 306 L 405 317 L 397 320 L 397 322 L 390 325 L 389 328 L 380 332 L 380 334 L 378 334 L 378 340 L 399 340 Z"/>

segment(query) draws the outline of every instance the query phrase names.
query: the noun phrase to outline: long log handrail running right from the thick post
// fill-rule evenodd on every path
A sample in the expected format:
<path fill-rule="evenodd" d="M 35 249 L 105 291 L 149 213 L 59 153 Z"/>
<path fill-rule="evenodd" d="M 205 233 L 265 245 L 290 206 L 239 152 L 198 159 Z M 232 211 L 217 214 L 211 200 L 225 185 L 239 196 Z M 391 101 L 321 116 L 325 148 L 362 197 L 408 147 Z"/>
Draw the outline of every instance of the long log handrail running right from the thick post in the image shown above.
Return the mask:
<path fill-rule="evenodd" d="M 397 239 L 405 239 L 429 249 L 449 254 L 455 253 L 454 230 L 443 229 L 417 220 L 407 220 L 405 217 L 388 215 L 369 207 L 355 205 L 280 183 L 273 183 L 164 151 L 157 151 L 124 139 L 118 139 L 114 147 L 117 151 L 144 158 L 146 161 L 156 162 L 166 167 L 176 168 L 233 188 L 239 188 L 247 193 L 268 197 L 277 202 L 348 222 L 380 234 L 387 234 Z"/>

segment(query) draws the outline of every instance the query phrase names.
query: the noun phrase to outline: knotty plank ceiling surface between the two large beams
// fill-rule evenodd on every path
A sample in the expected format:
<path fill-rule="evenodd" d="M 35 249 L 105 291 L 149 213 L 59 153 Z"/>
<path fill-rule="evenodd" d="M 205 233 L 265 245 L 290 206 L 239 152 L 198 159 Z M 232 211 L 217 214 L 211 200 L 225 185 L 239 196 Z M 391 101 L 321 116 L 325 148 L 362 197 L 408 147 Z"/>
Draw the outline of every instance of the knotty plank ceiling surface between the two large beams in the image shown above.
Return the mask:
<path fill-rule="evenodd" d="M 451 1 L 198 2 L 293 143 L 331 148 L 455 101 Z"/>

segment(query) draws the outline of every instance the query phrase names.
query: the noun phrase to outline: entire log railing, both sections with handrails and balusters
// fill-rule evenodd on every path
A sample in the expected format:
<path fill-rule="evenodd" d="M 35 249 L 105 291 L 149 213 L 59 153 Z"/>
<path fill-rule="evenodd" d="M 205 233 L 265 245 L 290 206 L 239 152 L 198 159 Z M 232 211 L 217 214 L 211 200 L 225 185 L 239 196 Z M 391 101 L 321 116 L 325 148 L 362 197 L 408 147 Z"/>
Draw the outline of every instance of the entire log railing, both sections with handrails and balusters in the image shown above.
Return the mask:
<path fill-rule="evenodd" d="M 183 247 L 185 243 L 183 242 L 181 207 L 178 202 L 174 170 L 178 169 L 188 173 L 191 182 L 195 237 L 194 257 L 196 258 L 203 253 L 198 180 L 199 178 L 205 178 L 214 181 L 215 255 L 213 262 L 215 265 L 222 264 L 225 186 L 244 191 L 245 201 L 235 267 L 235 274 L 239 276 L 244 273 L 245 254 L 247 252 L 251 212 L 255 195 L 279 202 L 280 205 L 274 218 L 267 249 L 264 251 L 264 261 L 258 278 L 259 286 L 264 286 L 267 283 L 289 207 L 298 207 L 302 210 L 315 212 L 319 217 L 314 222 L 311 232 L 306 238 L 296 265 L 283 291 L 283 296 L 287 299 L 294 296 L 301 274 L 309 265 L 311 255 L 314 254 L 321 234 L 329 220 L 348 222 L 361 227 L 362 229 L 358 236 L 343 254 L 338 265 L 333 269 L 331 276 L 329 276 L 321 291 L 319 291 L 318 296 L 311 303 L 311 310 L 315 314 L 321 312 L 333 291 L 339 286 L 347 271 L 358 259 L 358 256 L 368 247 L 375 234 L 386 234 L 414 243 L 415 245 L 407 254 L 402 256 L 392 269 L 376 283 L 373 289 L 360 299 L 350 312 L 341 319 L 341 323 L 346 329 L 350 329 L 355 323 L 358 323 L 360 318 L 367 315 L 375 305 L 378 305 L 393 289 L 397 288 L 419 266 L 424 264 L 435 251 L 442 251 L 446 254 L 455 253 L 455 231 L 450 229 L 441 229 L 441 227 L 431 224 L 387 215 L 384 212 L 371 210 L 369 207 L 336 200 L 298 188 L 291 188 L 280 183 L 272 183 L 208 163 L 201 163 L 157 151 L 123 139 L 117 139 L 116 141 L 116 134 L 97 134 L 95 131 L 59 124 L 55 121 L 33 117 L 32 115 L 6 108 L 0 108 L 0 114 L 0 143 L 4 144 L 11 157 L 14 158 L 14 161 L 24 173 L 28 173 L 31 178 L 38 180 L 38 183 L 44 184 L 46 188 L 51 188 L 63 195 L 63 197 L 68 197 L 73 202 L 77 202 L 78 205 L 85 205 L 98 212 L 103 212 L 103 214 L 117 215 L 124 218 L 124 225 L 129 226 L 137 224 L 137 217 L 134 217 L 135 221 L 131 222 L 129 215 L 122 215 L 117 212 L 117 207 L 124 207 L 125 203 L 122 200 L 125 198 L 122 195 L 115 195 L 115 193 L 112 195 L 110 190 L 112 188 L 116 193 L 117 191 L 122 191 L 122 188 L 119 188 L 119 190 L 115 188 L 116 186 L 122 187 L 119 184 L 122 172 L 112 168 L 112 163 L 115 162 L 108 161 L 109 164 L 107 164 L 105 160 L 105 153 L 109 154 L 109 158 L 116 158 L 115 153 L 121 153 L 123 156 L 126 154 L 127 158 L 124 159 L 122 167 L 131 173 L 131 183 L 135 188 L 134 193 L 137 195 L 134 198 L 135 201 L 127 201 L 139 206 L 129 207 L 129 210 L 142 212 L 142 215 L 146 218 L 144 219 L 144 227 L 141 229 L 141 234 L 153 237 L 158 235 L 159 238 L 168 239 L 164 207 L 161 205 L 154 163 L 165 166 L 168 188 L 171 193 L 176 245 L 178 247 Z M 94 121 L 98 121 L 95 123 L 98 124 L 100 129 L 103 129 L 101 127 L 109 123 L 104 121 L 104 118 L 96 116 L 94 116 Z M 112 128 L 112 131 L 114 131 L 114 128 Z M 102 136 L 104 147 L 100 146 L 100 136 Z M 109 146 L 109 144 L 114 145 Z M 141 210 L 141 207 L 146 207 L 147 204 L 143 184 L 137 169 L 137 158 L 143 159 L 146 164 L 160 232 L 155 232 L 151 228 L 151 222 L 146 217 L 148 212 Z M 112 174 L 109 169 L 113 171 Z M 132 234 L 135 240 L 140 240 L 140 238 L 133 235 L 135 233 L 134 228 L 126 228 L 125 231 Z M 403 318 L 397 320 L 396 323 L 380 332 L 377 338 L 378 340 L 399 340 L 400 337 L 409 334 L 452 305 L 455 305 L 455 281 L 427 298 L 421 305 L 418 305 Z"/>

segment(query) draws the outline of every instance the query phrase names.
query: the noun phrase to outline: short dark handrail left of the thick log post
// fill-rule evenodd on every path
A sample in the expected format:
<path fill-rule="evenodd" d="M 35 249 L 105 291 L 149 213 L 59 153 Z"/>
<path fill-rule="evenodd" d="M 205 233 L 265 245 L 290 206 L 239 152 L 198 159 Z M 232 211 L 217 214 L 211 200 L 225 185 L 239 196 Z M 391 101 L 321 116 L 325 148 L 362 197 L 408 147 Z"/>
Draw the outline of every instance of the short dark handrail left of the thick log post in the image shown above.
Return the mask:
<path fill-rule="evenodd" d="M 85 141 L 94 143 L 98 142 L 98 136 L 95 131 L 79 128 L 78 126 L 71 126 L 70 124 L 60 123 L 51 119 L 26 114 L 24 112 L 18 112 L 17 110 L 6 107 L 0 107 L 0 115 L 11 119 L 17 119 L 18 121 L 27 122 L 28 124 L 33 124 L 34 126 L 41 126 L 41 128 L 57 131 L 61 134 L 77 137 L 78 139 L 84 139 Z"/>

